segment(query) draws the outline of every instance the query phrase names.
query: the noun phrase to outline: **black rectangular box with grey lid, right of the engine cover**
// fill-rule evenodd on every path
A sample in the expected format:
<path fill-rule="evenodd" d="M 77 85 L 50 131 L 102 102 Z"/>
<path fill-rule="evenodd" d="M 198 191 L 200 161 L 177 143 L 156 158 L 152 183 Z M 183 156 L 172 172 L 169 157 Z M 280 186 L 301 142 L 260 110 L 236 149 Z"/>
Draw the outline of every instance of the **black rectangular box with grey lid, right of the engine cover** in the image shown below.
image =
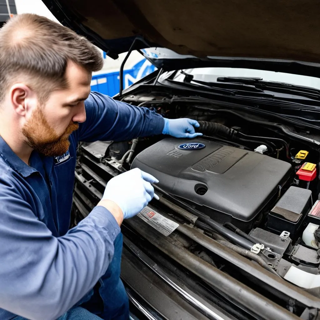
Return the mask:
<path fill-rule="evenodd" d="M 311 191 L 292 186 L 269 212 L 267 228 L 276 233 L 288 231 L 293 238 L 311 207 Z"/>

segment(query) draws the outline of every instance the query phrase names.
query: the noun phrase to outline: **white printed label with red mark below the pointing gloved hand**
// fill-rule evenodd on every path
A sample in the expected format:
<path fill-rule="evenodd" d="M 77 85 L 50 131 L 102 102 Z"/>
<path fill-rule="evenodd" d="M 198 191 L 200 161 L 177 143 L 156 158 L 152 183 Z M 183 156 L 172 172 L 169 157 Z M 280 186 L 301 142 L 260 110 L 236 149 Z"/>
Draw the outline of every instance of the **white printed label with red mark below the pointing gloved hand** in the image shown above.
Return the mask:
<path fill-rule="evenodd" d="M 151 210 L 149 207 L 145 207 L 137 216 L 164 236 L 169 236 L 172 231 L 179 227 L 179 223 L 165 218 L 162 214 Z"/>

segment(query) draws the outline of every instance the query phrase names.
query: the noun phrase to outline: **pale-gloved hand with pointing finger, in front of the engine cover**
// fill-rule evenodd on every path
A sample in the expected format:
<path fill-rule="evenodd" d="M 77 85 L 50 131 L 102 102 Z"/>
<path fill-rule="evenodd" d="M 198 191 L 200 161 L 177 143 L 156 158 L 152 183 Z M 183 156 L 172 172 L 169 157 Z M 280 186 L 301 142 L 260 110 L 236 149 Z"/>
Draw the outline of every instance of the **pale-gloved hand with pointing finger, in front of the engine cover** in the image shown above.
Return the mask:
<path fill-rule="evenodd" d="M 151 183 L 158 182 L 151 174 L 135 168 L 112 178 L 106 186 L 102 200 L 113 201 L 122 210 L 124 219 L 131 218 L 153 197 L 159 200 L 151 186 Z"/>

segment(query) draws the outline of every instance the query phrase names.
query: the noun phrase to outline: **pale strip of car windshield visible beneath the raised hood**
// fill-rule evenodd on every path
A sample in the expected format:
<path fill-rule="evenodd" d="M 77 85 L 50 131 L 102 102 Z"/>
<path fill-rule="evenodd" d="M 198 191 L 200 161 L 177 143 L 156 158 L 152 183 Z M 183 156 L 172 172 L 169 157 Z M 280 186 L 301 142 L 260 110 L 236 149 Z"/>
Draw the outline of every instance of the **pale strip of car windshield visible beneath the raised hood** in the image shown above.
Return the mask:
<path fill-rule="evenodd" d="M 219 77 L 250 77 L 262 78 L 264 81 L 281 82 L 320 89 L 320 79 L 310 76 L 300 76 L 290 73 L 274 72 L 266 70 L 242 69 L 242 68 L 194 68 L 179 71 L 174 81 L 184 82 L 186 75 L 193 76 L 193 80 L 204 82 L 216 82 Z M 163 75 L 165 78 L 166 76 Z M 192 81 L 191 81 L 192 83 Z"/>

